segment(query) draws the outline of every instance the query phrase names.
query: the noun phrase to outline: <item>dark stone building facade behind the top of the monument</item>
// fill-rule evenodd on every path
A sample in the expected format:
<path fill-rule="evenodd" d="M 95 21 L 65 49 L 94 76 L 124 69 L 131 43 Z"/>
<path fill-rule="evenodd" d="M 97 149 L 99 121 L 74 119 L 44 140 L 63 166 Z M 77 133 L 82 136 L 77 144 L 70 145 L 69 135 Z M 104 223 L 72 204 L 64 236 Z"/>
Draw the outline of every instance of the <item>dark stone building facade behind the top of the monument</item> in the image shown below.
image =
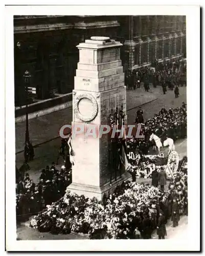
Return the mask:
<path fill-rule="evenodd" d="M 123 44 L 124 72 L 155 60 L 186 57 L 186 16 L 14 16 L 15 105 L 25 104 L 23 75 L 31 73 L 31 102 L 71 93 L 76 46 L 91 36 Z"/>

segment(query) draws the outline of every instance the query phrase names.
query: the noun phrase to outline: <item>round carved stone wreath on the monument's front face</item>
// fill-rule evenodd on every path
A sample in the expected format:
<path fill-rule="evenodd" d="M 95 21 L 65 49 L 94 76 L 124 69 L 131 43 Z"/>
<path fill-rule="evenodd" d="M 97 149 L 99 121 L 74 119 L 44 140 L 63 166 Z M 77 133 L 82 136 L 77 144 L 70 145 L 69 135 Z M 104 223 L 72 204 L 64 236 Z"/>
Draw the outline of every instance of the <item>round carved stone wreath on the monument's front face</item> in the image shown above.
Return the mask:
<path fill-rule="evenodd" d="M 89 99 L 92 102 L 93 109 L 94 109 L 92 115 L 83 116 L 80 113 L 78 105 L 79 105 L 79 102 L 81 101 L 81 99 Z M 91 94 L 81 94 L 75 99 L 74 111 L 75 111 L 76 116 L 81 121 L 89 122 L 89 121 L 92 121 L 98 114 L 98 103 L 97 103 L 96 99 L 93 97 L 93 95 L 91 95 Z"/>

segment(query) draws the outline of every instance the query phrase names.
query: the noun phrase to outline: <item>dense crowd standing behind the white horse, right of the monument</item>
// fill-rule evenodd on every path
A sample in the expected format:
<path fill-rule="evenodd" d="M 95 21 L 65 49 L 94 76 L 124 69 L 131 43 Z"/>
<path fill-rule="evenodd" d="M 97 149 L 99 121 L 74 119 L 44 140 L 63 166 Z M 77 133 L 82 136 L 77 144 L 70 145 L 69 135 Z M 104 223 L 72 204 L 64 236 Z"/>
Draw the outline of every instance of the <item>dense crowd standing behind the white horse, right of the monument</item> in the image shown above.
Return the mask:
<path fill-rule="evenodd" d="M 150 135 L 153 133 L 158 136 L 162 143 L 166 138 L 172 138 L 174 141 L 187 137 L 187 104 L 183 102 L 180 108 L 166 110 L 162 108 L 153 118 L 144 122 L 143 111 L 140 108 L 136 113 L 135 124 L 140 124 L 140 135 L 144 135 L 144 139 L 131 138 L 127 139 L 127 145 L 134 152 L 147 155 L 150 147 L 154 142 L 150 141 Z"/>

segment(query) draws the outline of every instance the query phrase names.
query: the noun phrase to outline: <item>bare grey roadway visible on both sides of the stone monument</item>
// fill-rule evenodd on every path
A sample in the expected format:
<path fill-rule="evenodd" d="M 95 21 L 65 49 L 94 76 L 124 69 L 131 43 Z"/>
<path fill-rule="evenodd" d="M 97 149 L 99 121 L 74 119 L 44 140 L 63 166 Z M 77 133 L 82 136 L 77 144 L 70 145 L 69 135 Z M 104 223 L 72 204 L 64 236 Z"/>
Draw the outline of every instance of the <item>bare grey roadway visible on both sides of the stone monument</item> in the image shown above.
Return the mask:
<path fill-rule="evenodd" d="M 141 99 L 138 99 L 138 96 L 136 96 L 136 106 L 139 106 L 139 102 L 142 105 L 142 109 L 144 111 L 144 118 L 145 120 L 147 118 L 152 118 L 155 113 L 158 113 L 162 107 L 164 106 L 166 109 L 169 108 L 176 108 L 178 106 L 181 106 L 182 102 L 186 102 L 186 88 L 180 88 L 180 96 L 179 98 L 174 97 L 173 91 L 168 91 L 166 95 L 162 94 L 161 88 L 151 88 L 150 92 L 147 94 L 142 89 L 136 89 L 136 91 L 128 91 L 128 94 L 132 97 L 132 105 L 134 105 L 134 94 L 136 95 L 138 93 L 138 96 L 143 94 L 144 96 L 141 96 L 144 98 L 144 101 Z M 150 96 L 152 95 L 152 97 Z M 145 98 L 149 96 L 149 101 L 152 99 L 151 102 L 146 102 Z M 139 97 L 139 98 L 141 98 Z M 130 107 L 130 103 L 128 104 Z M 128 108 L 127 108 L 128 109 Z M 138 110 L 138 107 L 131 109 L 127 111 L 128 116 L 128 124 L 132 124 L 135 121 L 135 114 Z M 70 118 L 70 119 L 69 119 Z M 58 131 L 60 129 L 60 126 L 63 124 L 69 124 L 71 123 L 72 118 L 72 109 L 68 108 L 65 110 L 61 110 L 58 112 L 51 113 L 46 116 L 42 116 L 39 118 L 35 118 L 30 120 L 30 125 L 34 125 L 33 134 L 35 134 L 34 138 L 36 138 L 36 142 L 43 142 L 43 139 L 45 139 L 45 143 L 42 143 L 34 148 L 35 150 L 35 158 L 32 162 L 29 163 L 31 170 L 29 171 L 29 174 L 31 176 L 31 179 L 36 182 L 38 180 L 40 170 L 42 168 L 45 168 L 46 165 L 51 165 L 51 163 L 57 160 L 58 155 L 58 148 L 61 144 L 61 139 L 58 136 Z M 59 122 L 58 122 L 59 121 Z M 60 125 L 59 125 L 60 123 Z M 25 133 L 22 132 L 22 123 L 16 124 L 16 141 L 18 141 L 18 145 L 20 145 L 20 139 L 21 143 L 24 144 L 24 135 Z M 31 131 L 31 130 L 30 130 Z M 56 132 L 57 131 L 57 132 Z M 21 132 L 21 134 L 20 134 Z M 30 133 L 30 136 L 33 140 L 32 134 Z M 38 137 L 39 136 L 39 137 Z M 56 138 L 57 137 L 57 138 Z M 50 141 L 49 141 L 50 140 Z M 46 142 L 47 141 L 47 142 Z M 18 146 L 20 148 L 20 146 Z M 187 154 L 187 143 L 186 140 L 177 141 L 176 143 L 176 151 L 179 153 L 179 157 L 182 158 Z M 24 163 L 24 153 L 18 153 L 16 154 L 16 166 L 19 168 L 22 163 Z M 58 168 L 61 167 L 61 165 L 64 164 L 63 160 L 60 159 Z"/>

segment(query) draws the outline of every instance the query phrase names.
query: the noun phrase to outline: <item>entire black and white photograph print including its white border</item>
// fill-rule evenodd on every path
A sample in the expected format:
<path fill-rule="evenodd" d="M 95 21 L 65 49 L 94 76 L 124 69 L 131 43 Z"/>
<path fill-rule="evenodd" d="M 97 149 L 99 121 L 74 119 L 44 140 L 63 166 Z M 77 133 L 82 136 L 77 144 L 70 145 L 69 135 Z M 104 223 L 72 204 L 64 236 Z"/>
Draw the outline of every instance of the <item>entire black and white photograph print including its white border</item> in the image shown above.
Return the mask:
<path fill-rule="evenodd" d="M 199 7 L 48 7 L 7 6 L 8 250 L 199 250 Z"/>

